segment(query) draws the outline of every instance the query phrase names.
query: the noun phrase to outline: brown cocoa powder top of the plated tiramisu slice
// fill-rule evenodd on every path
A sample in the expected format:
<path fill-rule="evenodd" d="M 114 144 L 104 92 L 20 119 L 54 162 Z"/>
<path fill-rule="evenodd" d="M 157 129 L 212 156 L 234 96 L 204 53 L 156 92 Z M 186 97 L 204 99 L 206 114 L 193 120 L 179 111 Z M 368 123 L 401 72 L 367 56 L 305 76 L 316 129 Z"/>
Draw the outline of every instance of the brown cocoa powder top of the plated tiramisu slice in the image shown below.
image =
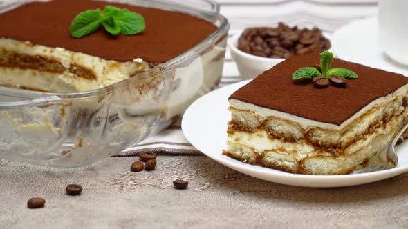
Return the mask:
<path fill-rule="evenodd" d="M 299 68 L 314 66 L 319 60 L 319 54 L 290 57 L 234 92 L 230 99 L 340 125 L 371 101 L 384 97 L 408 83 L 408 78 L 402 74 L 340 59 L 333 59 L 332 68 L 347 68 L 357 73 L 359 77 L 348 80 L 346 87 L 317 89 L 312 83 L 293 83 L 293 72 Z"/>

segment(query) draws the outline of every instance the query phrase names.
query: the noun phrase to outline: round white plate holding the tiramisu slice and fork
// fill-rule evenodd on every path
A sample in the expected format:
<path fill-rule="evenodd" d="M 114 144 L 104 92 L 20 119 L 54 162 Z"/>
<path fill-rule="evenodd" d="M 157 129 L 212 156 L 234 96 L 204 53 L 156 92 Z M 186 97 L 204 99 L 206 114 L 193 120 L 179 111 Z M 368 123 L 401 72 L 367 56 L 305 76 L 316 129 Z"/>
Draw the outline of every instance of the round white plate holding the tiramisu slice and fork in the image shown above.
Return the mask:
<path fill-rule="evenodd" d="M 196 100 L 183 117 L 183 133 L 194 147 L 208 157 L 233 170 L 275 183 L 304 187 L 342 187 L 380 181 L 408 171 L 408 144 L 398 146 L 399 164 L 396 168 L 379 172 L 351 175 L 296 175 L 271 168 L 252 166 L 222 154 L 226 148 L 227 123 L 230 121 L 228 97 L 250 81 L 234 83 Z"/>

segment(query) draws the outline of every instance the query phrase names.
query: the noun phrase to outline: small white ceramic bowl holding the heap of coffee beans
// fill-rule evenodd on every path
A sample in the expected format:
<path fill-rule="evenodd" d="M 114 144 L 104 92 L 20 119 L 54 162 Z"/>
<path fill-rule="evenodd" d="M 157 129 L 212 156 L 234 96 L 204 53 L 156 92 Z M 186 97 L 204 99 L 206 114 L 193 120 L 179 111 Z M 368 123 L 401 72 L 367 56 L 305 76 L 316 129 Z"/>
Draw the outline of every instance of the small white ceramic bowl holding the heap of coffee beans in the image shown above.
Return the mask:
<path fill-rule="evenodd" d="M 228 41 L 228 46 L 231 50 L 231 57 L 237 63 L 237 68 L 243 79 L 254 79 L 262 72 L 272 68 L 284 59 L 257 57 L 239 50 L 238 39 L 241 32 L 235 34 Z"/>

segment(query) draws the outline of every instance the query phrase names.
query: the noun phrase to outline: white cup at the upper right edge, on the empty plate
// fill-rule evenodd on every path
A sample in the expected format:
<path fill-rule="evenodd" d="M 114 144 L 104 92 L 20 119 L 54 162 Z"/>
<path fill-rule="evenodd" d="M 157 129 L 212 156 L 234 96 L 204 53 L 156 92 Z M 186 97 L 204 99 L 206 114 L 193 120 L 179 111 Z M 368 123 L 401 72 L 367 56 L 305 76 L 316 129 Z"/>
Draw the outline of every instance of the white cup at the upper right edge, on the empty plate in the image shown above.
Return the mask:
<path fill-rule="evenodd" d="M 382 50 L 394 61 L 408 65 L 408 0 L 380 0 L 378 8 Z"/>

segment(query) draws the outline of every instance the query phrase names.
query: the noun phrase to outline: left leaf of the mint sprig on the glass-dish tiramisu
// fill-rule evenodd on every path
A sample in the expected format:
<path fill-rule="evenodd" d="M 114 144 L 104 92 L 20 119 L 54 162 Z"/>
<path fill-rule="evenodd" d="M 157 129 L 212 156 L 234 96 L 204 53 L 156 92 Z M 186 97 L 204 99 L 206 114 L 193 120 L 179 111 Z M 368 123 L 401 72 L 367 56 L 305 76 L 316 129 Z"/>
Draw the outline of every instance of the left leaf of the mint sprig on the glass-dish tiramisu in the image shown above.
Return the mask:
<path fill-rule="evenodd" d="M 101 14 L 100 9 L 87 10 L 78 14 L 71 23 L 71 35 L 76 38 L 81 38 L 98 30 Z"/>

